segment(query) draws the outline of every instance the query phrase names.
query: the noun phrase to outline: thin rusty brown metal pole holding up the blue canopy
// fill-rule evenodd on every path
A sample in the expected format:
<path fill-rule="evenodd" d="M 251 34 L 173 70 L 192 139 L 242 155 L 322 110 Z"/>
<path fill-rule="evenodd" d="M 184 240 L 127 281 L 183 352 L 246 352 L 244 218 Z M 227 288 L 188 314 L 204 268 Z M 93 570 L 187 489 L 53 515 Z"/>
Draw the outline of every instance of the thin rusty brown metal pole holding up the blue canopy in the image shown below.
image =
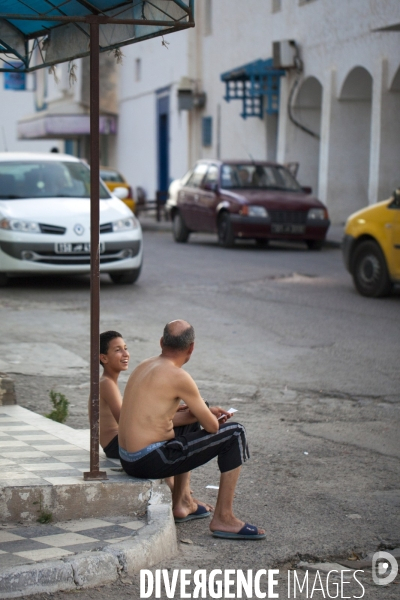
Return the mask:
<path fill-rule="evenodd" d="M 99 471 L 100 380 L 100 100 L 99 22 L 90 22 L 90 471 L 85 481 L 107 479 Z"/>

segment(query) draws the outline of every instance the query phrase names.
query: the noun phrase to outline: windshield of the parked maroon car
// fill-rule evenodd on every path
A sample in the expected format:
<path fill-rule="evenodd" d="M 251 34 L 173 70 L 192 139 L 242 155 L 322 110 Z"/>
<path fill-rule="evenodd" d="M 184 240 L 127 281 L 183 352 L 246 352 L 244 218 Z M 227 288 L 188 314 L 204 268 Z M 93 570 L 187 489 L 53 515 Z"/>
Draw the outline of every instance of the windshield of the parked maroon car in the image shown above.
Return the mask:
<path fill-rule="evenodd" d="M 267 189 L 301 192 L 301 187 L 285 169 L 275 165 L 224 164 L 221 170 L 223 188 Z"/>

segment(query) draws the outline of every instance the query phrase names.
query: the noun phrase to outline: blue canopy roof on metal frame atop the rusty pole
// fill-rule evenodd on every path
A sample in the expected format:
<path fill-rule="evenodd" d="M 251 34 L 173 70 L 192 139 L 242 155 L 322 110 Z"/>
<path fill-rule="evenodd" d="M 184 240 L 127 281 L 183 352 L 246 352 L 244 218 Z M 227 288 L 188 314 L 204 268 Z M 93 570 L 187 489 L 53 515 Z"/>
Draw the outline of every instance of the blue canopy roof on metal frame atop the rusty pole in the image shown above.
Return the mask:
<path fill-rule="evenodd" d="M 107 52 L 193 27 L 193 15 L 194 0 L 0 0 L 0 71 L 88 56 L 93 22 Z"/>

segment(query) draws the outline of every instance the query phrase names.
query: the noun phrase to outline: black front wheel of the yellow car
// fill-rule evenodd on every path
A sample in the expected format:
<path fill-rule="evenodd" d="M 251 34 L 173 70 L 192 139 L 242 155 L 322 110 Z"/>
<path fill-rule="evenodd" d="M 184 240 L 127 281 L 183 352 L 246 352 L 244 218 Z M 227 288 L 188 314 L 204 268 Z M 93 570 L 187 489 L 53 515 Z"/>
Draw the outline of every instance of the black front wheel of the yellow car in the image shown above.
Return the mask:
<path fill-rule="evenodd" d="M 385 257 L 378 244 L 362 242 L 355 250 L 353 281 L 362 296 L 379 298 L 387 296 L 391 289 Z"/>

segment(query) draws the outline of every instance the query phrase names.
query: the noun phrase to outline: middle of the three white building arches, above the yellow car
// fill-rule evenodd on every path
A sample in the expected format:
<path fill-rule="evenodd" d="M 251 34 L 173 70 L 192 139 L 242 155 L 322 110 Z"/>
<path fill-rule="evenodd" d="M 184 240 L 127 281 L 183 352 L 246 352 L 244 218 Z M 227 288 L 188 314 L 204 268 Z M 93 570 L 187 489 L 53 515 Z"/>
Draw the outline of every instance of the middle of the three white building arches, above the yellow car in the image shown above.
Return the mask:
<path fill-rule="evenodd" d="M 371 102 L 372 77 L 364 67 L 355 67 L 340 91 L 331 142 L 335 213 L 343 221 L 368 204 Z"/>

